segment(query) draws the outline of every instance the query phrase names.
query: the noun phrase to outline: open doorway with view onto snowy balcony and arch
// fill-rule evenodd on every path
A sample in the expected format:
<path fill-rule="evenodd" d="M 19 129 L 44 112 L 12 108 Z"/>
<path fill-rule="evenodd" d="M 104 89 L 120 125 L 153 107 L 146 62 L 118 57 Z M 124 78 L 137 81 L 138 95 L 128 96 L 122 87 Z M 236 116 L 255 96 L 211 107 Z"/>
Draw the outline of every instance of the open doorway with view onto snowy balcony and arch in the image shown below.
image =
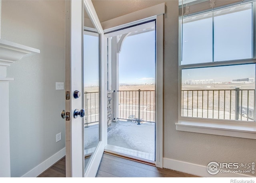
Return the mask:
<path fill-rule="evenodd" d="M 155 162 L 156 21 L 108 37 L 106 152 Z"/>

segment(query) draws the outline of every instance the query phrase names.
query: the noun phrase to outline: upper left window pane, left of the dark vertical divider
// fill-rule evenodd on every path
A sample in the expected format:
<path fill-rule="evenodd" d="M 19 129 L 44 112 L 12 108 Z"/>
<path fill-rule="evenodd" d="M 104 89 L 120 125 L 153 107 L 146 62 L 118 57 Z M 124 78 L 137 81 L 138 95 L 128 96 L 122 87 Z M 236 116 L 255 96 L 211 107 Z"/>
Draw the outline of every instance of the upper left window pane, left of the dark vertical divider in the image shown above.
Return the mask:
<path fill-rule="evenodd" d="M 212 62 L 212 13 L 184 18 L 181 65 Z"/>

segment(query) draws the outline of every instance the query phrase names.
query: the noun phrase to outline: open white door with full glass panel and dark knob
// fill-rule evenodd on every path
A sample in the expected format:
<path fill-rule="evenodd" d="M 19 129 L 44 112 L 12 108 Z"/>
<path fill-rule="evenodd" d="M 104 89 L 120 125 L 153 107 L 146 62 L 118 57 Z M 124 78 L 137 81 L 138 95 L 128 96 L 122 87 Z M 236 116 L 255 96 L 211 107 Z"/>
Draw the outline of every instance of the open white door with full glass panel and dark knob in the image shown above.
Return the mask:
<path fill-rule="evenodd" d="M 95 177 L 105 144 L 103 31 L 90 0 L 66 1 L 66 13 L 66 177 Z"/>

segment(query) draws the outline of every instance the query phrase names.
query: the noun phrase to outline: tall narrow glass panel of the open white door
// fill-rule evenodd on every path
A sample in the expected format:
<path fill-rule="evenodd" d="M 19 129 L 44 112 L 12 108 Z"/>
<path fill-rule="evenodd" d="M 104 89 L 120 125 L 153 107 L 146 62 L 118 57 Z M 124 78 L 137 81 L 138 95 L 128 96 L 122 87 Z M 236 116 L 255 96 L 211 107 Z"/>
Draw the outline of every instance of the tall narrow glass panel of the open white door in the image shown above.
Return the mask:
<path fill-rule="evenodd" d="M 84 167 L 99 143 L 99 34 L 84 10 Z"/>

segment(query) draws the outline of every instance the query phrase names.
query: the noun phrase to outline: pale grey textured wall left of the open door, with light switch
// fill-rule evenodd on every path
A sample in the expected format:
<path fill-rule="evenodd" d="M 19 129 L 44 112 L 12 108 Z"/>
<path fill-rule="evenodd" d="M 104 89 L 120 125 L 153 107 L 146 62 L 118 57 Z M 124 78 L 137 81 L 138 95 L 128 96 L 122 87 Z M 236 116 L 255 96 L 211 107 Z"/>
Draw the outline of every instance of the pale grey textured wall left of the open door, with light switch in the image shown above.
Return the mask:
<path fill-rule="evenodd" d="M 40 49 L 8 67 L 11 176 L 20 177 L 65 147 L 64 1 L 2 0 L 2 39 Z M 56 134 L 62 140 L 56 143 Z"/>

